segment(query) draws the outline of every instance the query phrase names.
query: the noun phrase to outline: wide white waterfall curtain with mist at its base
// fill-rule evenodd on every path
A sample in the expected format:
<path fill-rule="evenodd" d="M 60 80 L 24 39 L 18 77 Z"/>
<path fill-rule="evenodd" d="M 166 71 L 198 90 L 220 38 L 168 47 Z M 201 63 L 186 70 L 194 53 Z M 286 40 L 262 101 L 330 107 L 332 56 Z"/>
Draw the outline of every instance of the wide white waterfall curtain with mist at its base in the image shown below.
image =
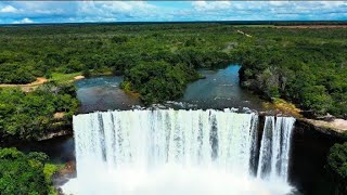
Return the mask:
<path fill-rule="evenodd" d="M 62 188 L 83 195 L 287 194 L 294 121 L 266 117 L 259 152 L 256 114 L 154 109 L 74 116 L 77 179 Z"/>

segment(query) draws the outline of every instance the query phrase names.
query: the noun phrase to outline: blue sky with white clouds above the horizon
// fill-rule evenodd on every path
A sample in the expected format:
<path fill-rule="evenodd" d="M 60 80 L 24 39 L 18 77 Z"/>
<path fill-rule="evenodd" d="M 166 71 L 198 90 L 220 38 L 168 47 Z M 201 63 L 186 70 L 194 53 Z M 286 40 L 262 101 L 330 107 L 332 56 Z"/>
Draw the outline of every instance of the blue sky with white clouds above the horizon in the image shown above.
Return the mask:
<path fill-rule="evenodd" d="M 0 1 L 0 24 L 347 21 L 347 1 Z"/>

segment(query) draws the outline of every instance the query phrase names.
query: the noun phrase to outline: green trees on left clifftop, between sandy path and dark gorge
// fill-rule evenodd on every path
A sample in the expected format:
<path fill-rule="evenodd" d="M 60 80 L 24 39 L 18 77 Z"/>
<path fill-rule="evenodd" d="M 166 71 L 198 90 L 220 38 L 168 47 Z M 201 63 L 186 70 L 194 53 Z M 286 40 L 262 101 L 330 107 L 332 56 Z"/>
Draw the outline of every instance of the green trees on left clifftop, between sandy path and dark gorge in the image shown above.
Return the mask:
<path fill-rule="evenodd" d="M 77 108 L 72 84 L 48 82 L 33 92 L 0 88 L 0 140 L 36 140 L 66 128 Z M 63 117 L 54 117 L 59 112 Z"/>

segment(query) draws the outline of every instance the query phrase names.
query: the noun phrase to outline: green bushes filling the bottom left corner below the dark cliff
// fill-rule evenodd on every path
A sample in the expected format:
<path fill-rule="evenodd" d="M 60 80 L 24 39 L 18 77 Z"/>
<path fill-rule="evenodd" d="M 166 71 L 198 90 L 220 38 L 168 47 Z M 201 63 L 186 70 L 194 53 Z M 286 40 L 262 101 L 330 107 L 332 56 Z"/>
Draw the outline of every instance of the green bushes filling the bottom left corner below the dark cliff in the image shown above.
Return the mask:
<path fill-rule="evenodd" d="M 43 153 L 25 155 L 15 148 L 0 148 L 1 194 L 54 194 L 51 177 L 57 168 L 47 160 Z"/>

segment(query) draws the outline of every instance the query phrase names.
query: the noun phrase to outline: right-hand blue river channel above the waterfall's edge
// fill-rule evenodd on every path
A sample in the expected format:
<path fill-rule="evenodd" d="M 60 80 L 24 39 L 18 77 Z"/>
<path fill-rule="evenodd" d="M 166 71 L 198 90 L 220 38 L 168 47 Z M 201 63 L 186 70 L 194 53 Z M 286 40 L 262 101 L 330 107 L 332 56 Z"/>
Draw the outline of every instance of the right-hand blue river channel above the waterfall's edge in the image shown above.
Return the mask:
<path fill-rule="evenodd" d="M 205 79 L 200 79 L 188 86 L 182 99 L 198 108 L 248 107 L 262 110 L 262 101 L 239 84 L 239 69 L 241 66 L 231 65 L 224 69 L 200 70 Z"/>

